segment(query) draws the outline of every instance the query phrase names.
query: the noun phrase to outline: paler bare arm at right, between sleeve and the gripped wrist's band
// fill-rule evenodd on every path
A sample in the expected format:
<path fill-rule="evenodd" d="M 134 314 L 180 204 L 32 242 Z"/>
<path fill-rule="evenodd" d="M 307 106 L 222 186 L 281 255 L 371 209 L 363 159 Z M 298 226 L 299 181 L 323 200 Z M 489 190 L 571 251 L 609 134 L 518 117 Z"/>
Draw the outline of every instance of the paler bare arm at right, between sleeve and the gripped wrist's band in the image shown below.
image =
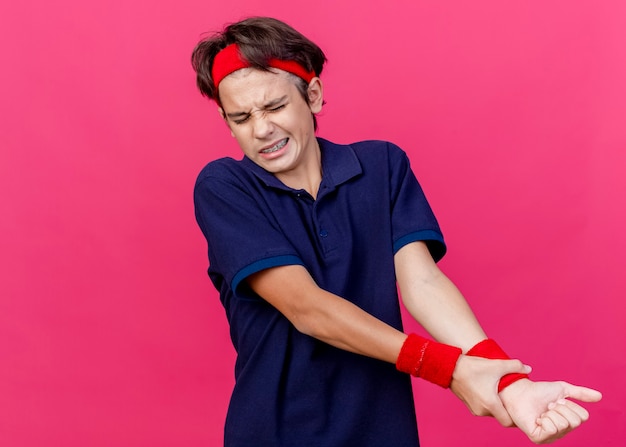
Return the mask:
<path fill-rule="evenodd" d="M 487 338 L 461 292 L 439 270 L 423 243 L 400 249 L 395 264 L 405 307 L 436 340 L 467 352 Z"/>

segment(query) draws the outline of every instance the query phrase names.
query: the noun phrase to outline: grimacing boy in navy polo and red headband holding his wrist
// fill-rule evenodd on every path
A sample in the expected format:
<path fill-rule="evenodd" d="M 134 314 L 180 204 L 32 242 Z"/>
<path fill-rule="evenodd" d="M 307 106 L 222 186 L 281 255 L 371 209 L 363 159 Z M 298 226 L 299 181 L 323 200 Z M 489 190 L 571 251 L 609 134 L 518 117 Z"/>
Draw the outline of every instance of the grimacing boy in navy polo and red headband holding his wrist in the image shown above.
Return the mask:
<path fill-rule="evenodd" d="M 410 376 L 534 442 L 600 394 L 532 382 L 487 338 L 438 269 L 443 236 L 398 147 L 316 138 L 323 52 L 275 19 L 252 18 L 192 56 L 240 161 L 200 173 L 196 218 L 237 350 L 228 446 L 417 446 Z M 402 332 L 410 314 L 440 343 Z M 500 360 L 494 360 L 500 359 Z"/>

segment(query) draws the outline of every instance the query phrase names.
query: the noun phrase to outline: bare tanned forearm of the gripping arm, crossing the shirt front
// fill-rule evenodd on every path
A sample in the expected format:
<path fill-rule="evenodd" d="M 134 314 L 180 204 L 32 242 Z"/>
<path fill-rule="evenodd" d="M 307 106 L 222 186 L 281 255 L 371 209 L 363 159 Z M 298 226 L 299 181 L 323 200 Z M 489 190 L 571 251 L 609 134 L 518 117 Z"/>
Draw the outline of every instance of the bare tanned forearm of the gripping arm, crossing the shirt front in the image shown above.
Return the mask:
<path fill-rule="evenodd" d="M 337 348 L 395 363 L 406 340 L 401 331 L 320 289 L 301 266 L 264 270 L 248 282 L 300 332 Z"/>

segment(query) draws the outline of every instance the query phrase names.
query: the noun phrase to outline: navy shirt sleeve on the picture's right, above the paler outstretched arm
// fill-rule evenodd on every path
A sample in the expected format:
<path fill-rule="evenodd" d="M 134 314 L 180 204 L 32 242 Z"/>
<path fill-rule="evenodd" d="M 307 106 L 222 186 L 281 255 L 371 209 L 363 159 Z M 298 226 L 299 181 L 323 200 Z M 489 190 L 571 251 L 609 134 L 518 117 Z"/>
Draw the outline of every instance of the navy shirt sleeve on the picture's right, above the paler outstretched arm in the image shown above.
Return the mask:
<path fill-rule="evenodd" d="M 443 234 L 408 157 L 390 145 L 389 163 L 394 253 L 411 242 L 424 241 L 433 259 L 439 261 L 446 253 Z"/>

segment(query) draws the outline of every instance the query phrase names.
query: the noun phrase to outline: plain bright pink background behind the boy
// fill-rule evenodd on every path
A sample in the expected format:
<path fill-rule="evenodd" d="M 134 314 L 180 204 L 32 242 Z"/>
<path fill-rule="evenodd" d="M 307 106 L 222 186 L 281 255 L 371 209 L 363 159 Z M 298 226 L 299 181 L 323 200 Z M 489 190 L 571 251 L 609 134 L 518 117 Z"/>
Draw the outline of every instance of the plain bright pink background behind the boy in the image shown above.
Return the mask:
<path fill-rule="evenodd" d="M 189 55 L 254 14 L 327 52 L 320 135 L 409 152 L 488 333 L 604 392 L 559 445 L 625 445 L 620 0 L 3 2 L 0 444 L 220 445 L 234 355 L 191 194 L 238 149 Z M 425 446 L 529 444 L 415 390 Z"/>

